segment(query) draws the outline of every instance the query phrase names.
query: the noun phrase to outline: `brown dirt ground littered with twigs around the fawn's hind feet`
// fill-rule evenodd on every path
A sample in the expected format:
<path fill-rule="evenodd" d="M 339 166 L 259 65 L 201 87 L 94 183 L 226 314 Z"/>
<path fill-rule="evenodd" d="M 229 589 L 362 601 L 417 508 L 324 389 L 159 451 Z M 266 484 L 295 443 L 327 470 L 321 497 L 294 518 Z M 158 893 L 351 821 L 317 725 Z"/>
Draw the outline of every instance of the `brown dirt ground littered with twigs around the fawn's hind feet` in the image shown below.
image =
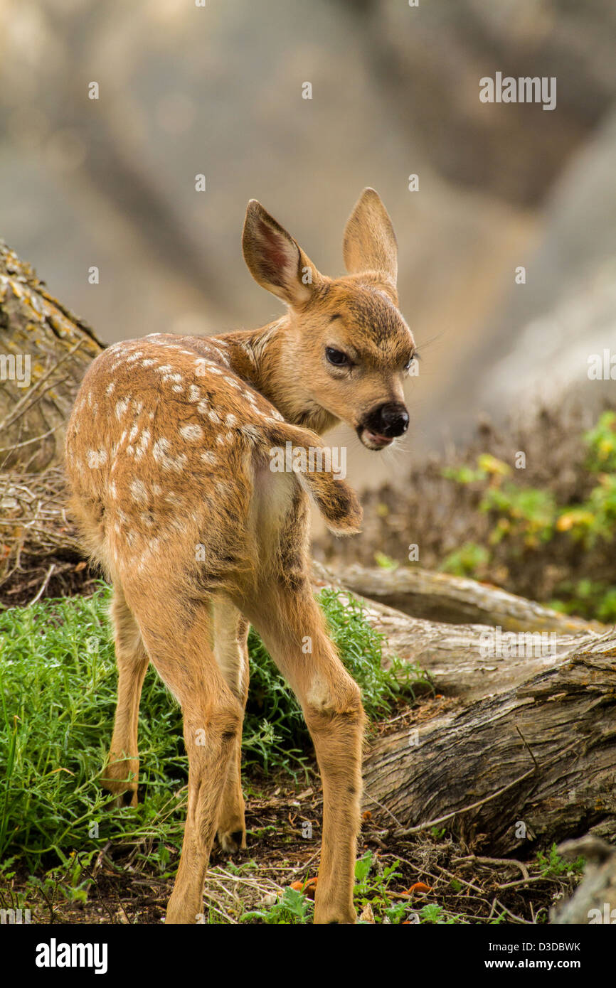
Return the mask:
<path fill-rule="evenodd" d="M 423 707 L 441 705 L 424 699 L 417 714 L 430 716 Z M 408 709 L 408 708 L 407 708 Z M 399 728 L 406 711 L 379 725 L 379 732 Z M 206 879 L 206 923 L 264 922 L 241 919 L 245 912 L 267 912 L 293 882 L 316 876 L 320 854 L 322 799 L 315 767 L 297 784 L 287 775 L 276 778 L 253 774 L 244 779 L 246 792 L 247 850 L 229 860 L 215 847 Z M 307 827 L 307 824 L 310 827 Z M 546 873 L 537 861 L 516 862 L 482 856 L 478 845 L 470 847 L 448 830 L 435 829 L 409 838 L 398 838 L 386 807 L 373 804 L 364 813 L 358 857 L 373 856 L 368 889 L 359 903 L 371 903 L 376 922 L 383 922 L 386 908 L 399 903 L 408 909 L 402 922 L 440 923 L 546 923 L 550 907 L 569 895 L 579 880 L 572 873 Z M 308 839 L 303 833 L 309 832 Z M 148 857 L 157 841 L 133 847 L 104 848 L 84 869 L 88 879 L 87 901 L 71 901 L 61 875 L 54 887 L 29 892 L 31 922 L 39 924 L 159 924 L 164 922 L 178 853 L 167 846 L 169 861 L 161 871 L 159 855 Z M 396 864 L 396 876 L 387 883 L 384 869 Z M 26 874 L 19 871 L 10 887 L 0 886 L 0 906 L 17 903 Z M 413 887 L 414 886 L 414 887 Z M 309 892 L 310 890 L 308 890 Z M 428 907 L 427 909 L 424 907 Z M 434 908 L 438 907 L 438 908 Z M 423 910 L 423 911 L 422 911 Z M 370 922 L 370 910 L 366 914 Z M 386 919 L 386 922 L 389 922 Z"/>

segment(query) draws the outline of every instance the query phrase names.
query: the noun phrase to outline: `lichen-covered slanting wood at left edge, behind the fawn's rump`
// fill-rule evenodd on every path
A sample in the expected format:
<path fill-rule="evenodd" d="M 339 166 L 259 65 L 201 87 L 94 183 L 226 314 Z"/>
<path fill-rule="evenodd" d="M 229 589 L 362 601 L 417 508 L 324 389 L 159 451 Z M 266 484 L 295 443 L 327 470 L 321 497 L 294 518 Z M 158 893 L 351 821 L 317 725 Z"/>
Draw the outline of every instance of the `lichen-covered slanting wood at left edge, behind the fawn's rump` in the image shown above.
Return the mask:
<path fill-rule="evenodd" d="M 103 344 L 0 240 L 0 465 L 38 472 L 61 459 L 79 382 Z"/>

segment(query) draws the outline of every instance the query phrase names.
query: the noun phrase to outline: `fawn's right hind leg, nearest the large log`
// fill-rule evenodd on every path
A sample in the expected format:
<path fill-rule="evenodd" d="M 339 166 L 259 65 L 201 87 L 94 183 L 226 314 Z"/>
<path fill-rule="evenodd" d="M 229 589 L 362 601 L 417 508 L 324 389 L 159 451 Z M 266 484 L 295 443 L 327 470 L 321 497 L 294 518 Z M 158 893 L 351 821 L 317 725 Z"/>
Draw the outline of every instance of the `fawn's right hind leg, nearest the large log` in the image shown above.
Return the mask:
<path fill-rule="evenodd" d="M 364 710 L 359 687 L 329 640 L 308 580 L 299 591 L 270 586 L 249 615 L 302 704 L 323 785 L 315 923 L 355 923 L 353 887 L 360 829 Z M 303 651 L 303 644 L 311 651 Z"/>

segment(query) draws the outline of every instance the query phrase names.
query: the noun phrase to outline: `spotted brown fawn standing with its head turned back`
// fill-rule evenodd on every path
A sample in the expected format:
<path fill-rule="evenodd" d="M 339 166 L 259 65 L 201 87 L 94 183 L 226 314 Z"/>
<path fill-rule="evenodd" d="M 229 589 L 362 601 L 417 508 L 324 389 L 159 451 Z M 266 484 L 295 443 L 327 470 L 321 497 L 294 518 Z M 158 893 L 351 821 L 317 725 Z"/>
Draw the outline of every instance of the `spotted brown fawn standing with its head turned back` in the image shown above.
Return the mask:
<path fill-rule="evenodd" d="M 408 426 L 415 346 L 397 309 L 396 237 L 365 189 L 344 232 L 348 276 L 321 275 L 256 200 L 243 255 L 287 303 L 254 331 L 154 333 L 106 349 L 66 433 L 70 510 L 113 582 L 118 706 L 103 784 L 136 805 L 137 718 L 151 661 L 181 704 L 188 812 L 167 923 L 195 923 L 214 838 L 245 848 L 241 728 L 249 623 L 298 697 L 323 787 L 315 923 L 353 923 L 364 713 L 308 579 L 308 497 L 329 529 L 361 508 L 330 470 L 270 469 L 274 449 L 326 448 L 339 420 L 371 450 Z M 308 638 L 307 638 L 308 636 Z M 303 642 L 311 642 L 311 651 Z"/>

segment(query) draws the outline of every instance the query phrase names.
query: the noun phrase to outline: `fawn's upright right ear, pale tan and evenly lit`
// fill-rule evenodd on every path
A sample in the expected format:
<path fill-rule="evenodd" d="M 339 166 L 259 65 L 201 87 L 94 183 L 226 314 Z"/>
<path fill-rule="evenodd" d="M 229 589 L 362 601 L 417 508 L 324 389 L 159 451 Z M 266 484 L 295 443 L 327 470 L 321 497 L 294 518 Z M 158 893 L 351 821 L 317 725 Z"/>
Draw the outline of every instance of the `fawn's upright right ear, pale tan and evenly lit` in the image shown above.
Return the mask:
<path fill-rule="evenodd" d="M 396 288 L 397 242 L 388 210 L 374 189 L 364 189 L 344 227 L 342 255 L 349 275 L 378 271 Z"/>

